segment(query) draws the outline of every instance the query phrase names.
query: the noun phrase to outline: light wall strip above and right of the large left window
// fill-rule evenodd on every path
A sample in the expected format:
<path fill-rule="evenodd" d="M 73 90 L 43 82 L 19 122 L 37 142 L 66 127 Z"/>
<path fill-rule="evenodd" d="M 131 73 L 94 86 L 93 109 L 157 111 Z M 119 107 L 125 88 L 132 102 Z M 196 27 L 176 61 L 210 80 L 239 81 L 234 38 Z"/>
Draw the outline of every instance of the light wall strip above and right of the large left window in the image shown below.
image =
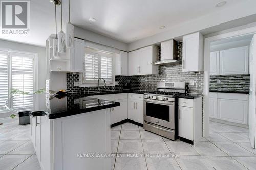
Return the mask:
<path fill-rule="evenodd" d="M 0 40 L 0 48 L 37 53 L 38 54 L 38 89 L 45 88 L 46 48 L 17 43 L 17 42 L 5 41 L 5 40 Z M 8 117 L 8 116 L 10 116 L 10 114 L 0 113 L 0 118 Z"/>

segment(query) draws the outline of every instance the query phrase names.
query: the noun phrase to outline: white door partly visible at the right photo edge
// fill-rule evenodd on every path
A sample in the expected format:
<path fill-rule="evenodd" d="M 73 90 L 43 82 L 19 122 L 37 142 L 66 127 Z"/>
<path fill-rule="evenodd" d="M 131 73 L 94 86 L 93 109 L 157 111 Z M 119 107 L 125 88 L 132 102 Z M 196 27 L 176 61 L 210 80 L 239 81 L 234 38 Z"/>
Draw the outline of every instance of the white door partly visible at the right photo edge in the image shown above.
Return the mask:
<path fill-rule="evenodd" d="M 250 44 L 250 96 L 249 96 L 249 138 L 251 147 L 255 148 L 255 104 L 256 104 L 256 44 L 254 34 Z"/>

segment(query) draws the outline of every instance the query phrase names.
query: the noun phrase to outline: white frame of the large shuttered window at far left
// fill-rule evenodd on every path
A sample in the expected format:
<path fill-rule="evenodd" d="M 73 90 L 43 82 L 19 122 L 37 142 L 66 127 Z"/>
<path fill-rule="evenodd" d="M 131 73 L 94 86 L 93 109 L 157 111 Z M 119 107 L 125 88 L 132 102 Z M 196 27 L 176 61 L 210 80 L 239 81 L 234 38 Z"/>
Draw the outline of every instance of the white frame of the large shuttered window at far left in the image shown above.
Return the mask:
<path fill-rule="evenodd" d="M 12 50 L 7 48 L 0 48 L 0 51 L 5 52 L 8 54 L 7 57 L 7 74 L 8 74 L 8 99 L 12 97 L 10 93 L 10 89 L 12 89 L 12 53 L 13 54 L 23 54 L 24 57 L 31 57 L 33 58 L 33 89 L 34 91 L 38 90 L 38 53 L 27 52 L 27 51 L 20 51 L 20 50 Z M 39 99 L 37 96 L 33 99 L 33 109 L 36 110 L 38 108 Z M 12 102 L 8 102 L 9 107 L 12 106 Z M 0 114 L 10 113 L 7 109 L 0 110 Z"/>

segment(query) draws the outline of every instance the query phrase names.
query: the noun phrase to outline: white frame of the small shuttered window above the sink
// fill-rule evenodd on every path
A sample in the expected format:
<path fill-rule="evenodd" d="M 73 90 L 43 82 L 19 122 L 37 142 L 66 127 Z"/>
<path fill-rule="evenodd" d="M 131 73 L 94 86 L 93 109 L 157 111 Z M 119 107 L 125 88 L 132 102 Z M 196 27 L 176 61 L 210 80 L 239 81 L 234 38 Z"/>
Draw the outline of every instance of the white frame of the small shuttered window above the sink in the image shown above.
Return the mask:
<path fill-rule="evenodd" d="M 101 57 L 109 57 L 112 59 L 112 81 L 106 81 L 106 86 L 115 86 L 115 53 L 112 52 L 106 52 L 106 51 L 101 51 L 95 48 L 91 47 L 84 47 L 84 57 L 86 54 L 89 55 L 98 55 L 98 75 L 99 78 L 101 77 Z M 86 53 L 86 51 L 88 51 Z M 85 66 L 84 66 L 85 67 Z M 98 86 L 98 80 L 96 81 L 84 81 L 84 72 L 85 68 L 83 67 L 83 73 L 79 74 L 79 86 L 80 87 L 95 87 Z M 104 86 L 103 80 L 100 81 L 99 86 Z"/>

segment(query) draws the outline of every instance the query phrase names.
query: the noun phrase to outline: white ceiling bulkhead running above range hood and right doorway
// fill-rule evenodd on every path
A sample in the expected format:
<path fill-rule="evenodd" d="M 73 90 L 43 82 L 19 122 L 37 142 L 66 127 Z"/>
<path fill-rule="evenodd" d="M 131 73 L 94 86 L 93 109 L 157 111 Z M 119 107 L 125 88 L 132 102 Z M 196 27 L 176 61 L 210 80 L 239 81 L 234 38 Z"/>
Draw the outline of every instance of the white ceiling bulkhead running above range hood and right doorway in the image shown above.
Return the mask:
<path fill-rule="evenodd" d="M 239 25 L 243 25 L 243 24 L 246 24 L 246 22 L 247 23 L 253 22 L 252 20 L 255 21 L 255 17 L 253 19 L 252 17 L 250 17 L 250 15 L 255 15 L 256 13 L 255 6 L 256 6 L 255 0 L 244 1 L 243 3 L 234 5 L 229 9 L 222 10 L 221 12 L 202 16 L 198 19 L 191 20 L 181 25 L 177 25 L 173 28 L 169 28 L 168 31 L 166 30 L 166 32 L 159 33 L 151 37 L 143 38 L 141 40 L 132 42 L 128 44 L 128 51 L 136 50 L 138 48 L 152 45 L 152 44 L 157 44 L 162 41 L 177 38 L 193 32 L 204 31 L 211 27 L 215 27 L 211 29 L 211 32 L 216 32 L 216 31 L 236 27 Z M 243 20 L 236 20 L 240 18 L 242 18 Z M 236 21 L 231 22 L 233 20 L 236 20 Z M 224 23 L 228 23 L 228 24 L 225 24 L 222 27 L 221 24 L 224 24 Z M 215 30 L 215 31 L 212 31 L 212 30 Z"/>

